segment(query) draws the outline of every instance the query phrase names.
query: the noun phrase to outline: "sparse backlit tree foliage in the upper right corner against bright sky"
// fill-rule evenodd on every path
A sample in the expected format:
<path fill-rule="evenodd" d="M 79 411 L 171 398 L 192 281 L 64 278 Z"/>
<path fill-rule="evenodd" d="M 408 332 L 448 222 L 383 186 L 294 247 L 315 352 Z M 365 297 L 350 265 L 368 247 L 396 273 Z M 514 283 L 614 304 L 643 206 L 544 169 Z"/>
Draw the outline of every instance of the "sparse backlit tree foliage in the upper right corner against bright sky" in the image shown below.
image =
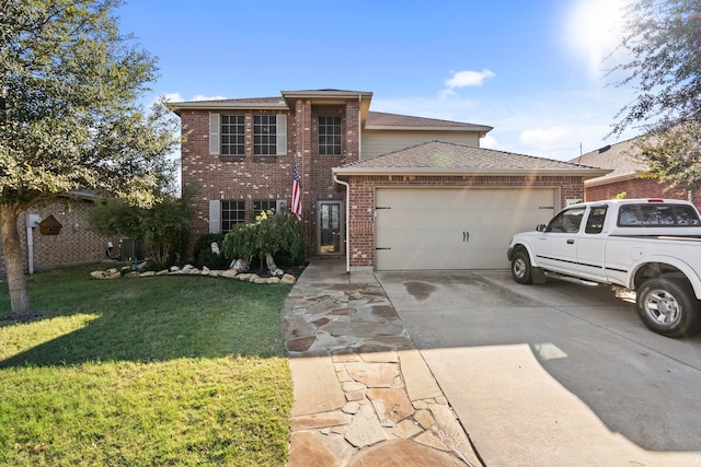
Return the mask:
<path fill-rule="evenodd" d="M 616 115 L 612 133 L 634 124 L 660 132 L 701 121 L 701 2 L 637 0 L 624 10 L 623 31 L 618 51 L 630 59 L 611 74 L 621 72 L 617 85 L 635 85 L 639 92 Z"/>

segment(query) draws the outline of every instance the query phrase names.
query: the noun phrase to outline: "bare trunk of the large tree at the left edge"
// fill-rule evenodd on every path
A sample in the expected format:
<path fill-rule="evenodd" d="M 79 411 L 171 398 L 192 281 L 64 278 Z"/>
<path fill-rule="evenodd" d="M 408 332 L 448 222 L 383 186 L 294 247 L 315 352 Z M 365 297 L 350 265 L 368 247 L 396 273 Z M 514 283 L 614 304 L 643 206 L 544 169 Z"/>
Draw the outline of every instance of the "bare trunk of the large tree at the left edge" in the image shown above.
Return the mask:
<path fill-rule="evenodd" d="M 0 205 L 0 240 L 2 240 L 2 253 L 8 272 L 12 315 L 23 318 L 32 314 L 32 308 L 26 293 L 22 246 L 18 234 L 18 209 L 14 205 Z"/>

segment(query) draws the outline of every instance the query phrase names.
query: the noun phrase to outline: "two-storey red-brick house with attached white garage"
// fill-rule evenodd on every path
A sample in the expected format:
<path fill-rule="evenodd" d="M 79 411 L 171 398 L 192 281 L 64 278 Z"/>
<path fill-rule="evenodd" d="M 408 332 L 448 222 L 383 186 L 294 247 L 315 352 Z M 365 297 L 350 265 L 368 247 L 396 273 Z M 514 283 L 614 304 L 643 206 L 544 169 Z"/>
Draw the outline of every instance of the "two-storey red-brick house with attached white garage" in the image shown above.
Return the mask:
<path fill-rule="evenodd" d="M 507 266 L 533 229 L 608 171 L 480 149 L 492 127 L 370 112 L 369 92 L 184 102 L 182 183 L 191 242 L 286 209 L 295 161 L 310 257 L 350 269 Z"/>

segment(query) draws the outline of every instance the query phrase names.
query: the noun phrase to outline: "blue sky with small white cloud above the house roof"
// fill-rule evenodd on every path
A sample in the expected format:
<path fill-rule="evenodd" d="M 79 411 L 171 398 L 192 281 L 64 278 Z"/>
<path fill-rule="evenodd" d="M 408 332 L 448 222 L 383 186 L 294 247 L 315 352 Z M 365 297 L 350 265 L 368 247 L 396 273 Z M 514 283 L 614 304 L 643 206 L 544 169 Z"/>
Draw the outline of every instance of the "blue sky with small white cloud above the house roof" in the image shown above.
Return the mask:
<path fill-rule="evenodd" d="M 634 97 L 607 74 L 623 1 L 127 0 L 116 14 L 158 58 L 145 102 L 371 92 L 370 110 L 487 125 L 483 148 L 568 161 L 637 136 L 607 138 Z"/>

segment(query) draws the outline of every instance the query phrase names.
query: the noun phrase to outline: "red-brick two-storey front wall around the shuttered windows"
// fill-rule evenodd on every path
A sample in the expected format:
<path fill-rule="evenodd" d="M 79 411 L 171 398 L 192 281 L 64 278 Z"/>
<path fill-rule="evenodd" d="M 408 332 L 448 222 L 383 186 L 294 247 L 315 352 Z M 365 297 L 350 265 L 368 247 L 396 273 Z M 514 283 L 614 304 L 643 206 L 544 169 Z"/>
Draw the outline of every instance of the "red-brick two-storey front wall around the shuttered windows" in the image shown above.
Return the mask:
<path fill-rule="evenodd" d="M 279 114 L 275 110 L 237 110 L 222 114 L 245 115 L 245 155 L 242 157 L 209 154 L 209 112 L 183 110 L 182 183 L 192 186 L 196 195 L 195 213 L 191 220 L 192 255 L 194 242 L 209 233 L 209 200 L 243 200 L 245 220 L 252 222 L 253 201 L 287 200 L 291 203 L 292 161 L 298 157 L 301 187 L 302 223 L 308 242 L 308 256 L 317 256 L 317 202 L 343 201 L 344 194 L 333 182 L 332 167 L 358 159 L 358 103 L 313 105 L 298 100 L 287 118 L 287 154 L 255 156 L 253 154 L 253 115 Z M 320 155 L 318 122 L 320 116 L 341 116 L 344 135 L 342 155 Z"/>

